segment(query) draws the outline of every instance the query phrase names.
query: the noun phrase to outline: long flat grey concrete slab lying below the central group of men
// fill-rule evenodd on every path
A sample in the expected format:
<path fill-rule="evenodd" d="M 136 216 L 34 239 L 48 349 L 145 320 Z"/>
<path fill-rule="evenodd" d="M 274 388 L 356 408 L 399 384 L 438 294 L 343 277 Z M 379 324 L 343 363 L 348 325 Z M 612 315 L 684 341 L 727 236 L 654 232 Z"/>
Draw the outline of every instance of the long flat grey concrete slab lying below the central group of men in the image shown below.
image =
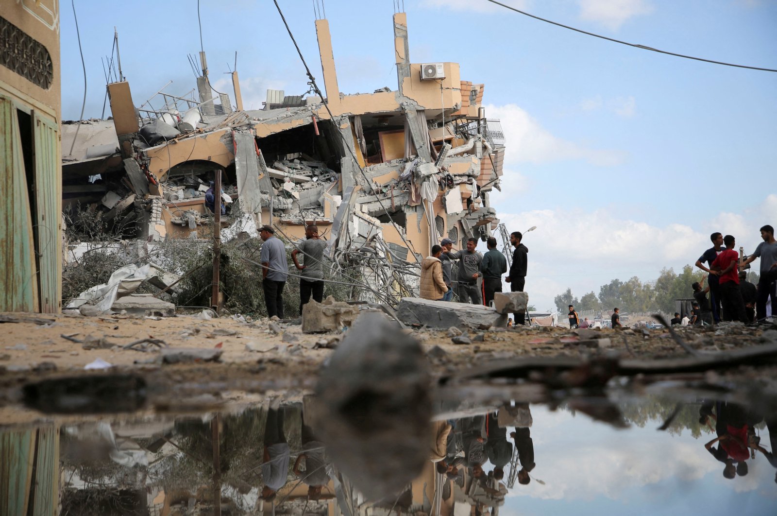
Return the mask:
<path fill-rule="evenodd" d="M 507 326 L 507 316 L 487 306 L 420 298 L 402 298 L 396 315 L 402 323 L 425 324 L 430 328 Z"/>

